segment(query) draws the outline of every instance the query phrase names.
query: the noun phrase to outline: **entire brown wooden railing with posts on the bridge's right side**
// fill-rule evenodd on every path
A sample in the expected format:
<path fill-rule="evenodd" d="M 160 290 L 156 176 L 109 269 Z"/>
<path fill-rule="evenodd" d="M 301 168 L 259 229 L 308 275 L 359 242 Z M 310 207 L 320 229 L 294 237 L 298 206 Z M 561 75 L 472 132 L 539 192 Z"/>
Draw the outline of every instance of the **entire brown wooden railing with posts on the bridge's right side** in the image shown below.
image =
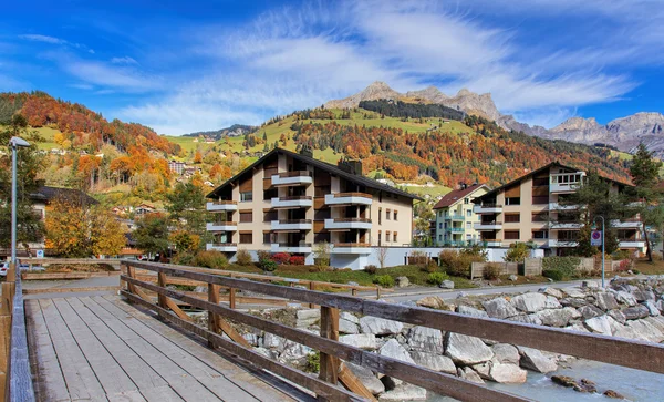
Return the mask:
<path fill-rule="evenodd" d="M 136 269 L 157 272 L 158 284 L 154 285 L 136 279 Z M 207 300 L 167 289 L 167 276 L 206 282 L 208 286 Z M 471 317 L 449 311 L 261 284 L 246 279 L 195 272 L 186 267 L 154 262 L 127 261 L 126 275 L 121 278 L 127 285 L 127 288 L 122 290 L 122 295 L 129 301 L 144 306 L 158 313 L 163 319 L 203 337 L 211 347 L 221 347 L 328 400 L 350 401 L 359 398 L 375 400 L 371 392 L 360 381 L 356 381 L 357 379 L 345 368 L 342 362 L 344 361 L 461 401 L 527 401 L 525 398 L 488 389 L 455 375 L 341 343 L 339 342 L 340 310 L 664 373 L 664 346 L 656 343 L 627 341 L 608 336 L 572 332 L 559 328 Z M 218 296 L 221 286 L 320 306 L 320 336 L 220 305 Z M 143 289 L 158 295 L 157 305 L 145 295 Z M 174 300 L 187 302 L 208 311 L 208 328 L 195 324 L 191 318 L 181 311 Z M 247 324 L 320 351 L 321 369 L 319 378 L 310 377 L 257 353 L 227 320 Z M 226 333 L 232 341 L 222 338 L 218 333 L 219 331 Z M 338 385 L 339 381 L 356 394 L 340 388 Z"/>

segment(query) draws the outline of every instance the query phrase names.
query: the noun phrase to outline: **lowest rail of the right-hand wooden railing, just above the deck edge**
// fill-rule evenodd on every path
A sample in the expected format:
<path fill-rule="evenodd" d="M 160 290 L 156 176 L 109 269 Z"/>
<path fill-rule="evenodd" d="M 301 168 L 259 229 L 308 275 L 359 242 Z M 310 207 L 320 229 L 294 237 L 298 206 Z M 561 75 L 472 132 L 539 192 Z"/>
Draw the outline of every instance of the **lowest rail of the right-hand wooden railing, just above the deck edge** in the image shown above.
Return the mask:
<path fill-rule="evenodd" d="M 231 352 L 245 360 L 248 360 L 255 364 L 258 364 L 259 367 L 261 367 L 266 370 L 269 370 L 269 371 L 271 371 L 278 375 L 281 375 L 290 381 L 293 381 L 294 383 L 300 384 L 300 385 L 304 386 L 305 389 L 315 392 L 319 395 L 322 395 L 324 398 L 328 398 L 328 399 L 334 400 L 334 401 L 356 401 L 356 400 L 359 400 L 359 398 L 356 395 L 354 395 L 353 393 L 351 393 L 349 391 L 342 390 L 338 386 L 329 384 L 317 378 L 308 375 L 307 373 L 304 373 L 300 370 L 290 368 L 284 364 L 280 364 L 280 363 L 273 361 L 272 359 L 269 359 L 262 354 L 255 352 L 251 349 L 246 349 L 237 343 L 228 341 L 228 340 L 221 338 L 221 336 L 219 336 L 217 333 L 212 333 L 212 332 L 210 332 L 201 327 L 198 327 L 191 322 L 179 319 L 177 316 L 168 312 L 165 309 L 159 308 L 158 306 L 147 303 L 144 300 L 142 300 L 141 298 L 136 297 L 135 295 L 132 295 L 126 291 L 123 291 L 122 293 L 124 297 L 132 300 L 133 302 L 144 306 L 153 311 L 156 311 L 159 315 L 159 317 L 163 317 L 163 318 L 174 322 L 175 324 L 186 329 L 187 331 L 196 333 L 197 336 L 199 336 L 201 338 L 212 340 L 215 342 L 216 347 L 224 348 L 224 349 L 228 350 L 229 352 Z"/>

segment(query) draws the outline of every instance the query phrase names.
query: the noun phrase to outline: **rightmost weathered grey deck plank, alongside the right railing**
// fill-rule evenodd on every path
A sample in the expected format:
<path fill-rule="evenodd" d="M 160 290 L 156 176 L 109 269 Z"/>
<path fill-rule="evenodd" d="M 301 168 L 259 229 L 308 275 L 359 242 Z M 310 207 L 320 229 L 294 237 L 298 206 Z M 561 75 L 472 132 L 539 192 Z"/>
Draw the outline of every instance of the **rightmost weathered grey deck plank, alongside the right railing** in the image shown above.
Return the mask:
<path fill-rule="evenodd" d="M 92 299 L 113 315 L 121 315 L 121 317 L 131 316 L 136 318 L 135 322 L 138 322 L 154 332 L 168 338 L 168 340 L 180 347 L 185 352 L 191 354 L 204 364 L 222 372 L 227 379 L 238 384 L 260 401 L 292 402 L 294 399 L 291 396 L 291 394 L 298 395 L 301 393 L 294 386 L 287 384 L 286 382 L 270 375 L 266 371 L 255 368 L 253 365 L 238 365 L 235 357 L 220 357 L 218 352 L 224 352 L 224 350 L 210 352 L 209 349 L 201 348 L 200 342 L 197 342 L 191 337 L 185 334 L 183 330 L 177 330 L 174 326 L 167 326 L 159 320 L 152 319 L 153 316 L 149 316 L 145 311 L 129 306 L 127 302 L 121 301 L 120 298 L 115 296 L 95 296 Z M 149 312 L 154 313 L 154 311 Z M 227 359 L 234 360 L 235 363 L 231 363 Z M 288 394 L 283 393 L 283 390 L 286 390 Z"/>

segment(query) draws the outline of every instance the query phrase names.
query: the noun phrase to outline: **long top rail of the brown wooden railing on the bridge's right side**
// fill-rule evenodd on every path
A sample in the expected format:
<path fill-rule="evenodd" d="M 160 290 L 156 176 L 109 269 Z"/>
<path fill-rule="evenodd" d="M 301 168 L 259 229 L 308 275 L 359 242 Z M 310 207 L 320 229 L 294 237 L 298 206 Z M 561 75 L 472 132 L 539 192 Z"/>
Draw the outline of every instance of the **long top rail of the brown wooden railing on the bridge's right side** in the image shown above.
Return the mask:
<path fill-rule="evenodd" d="M 134 264 L 134 262 L 132 262 Z M 313 302 L 341 310 L 361 312 L 390 320 L 453 331 L 499 342 L 519 344 L 540 350 L 585 358 L 610 364 L 664 373 L 664 346 L 645 341 L 627 341 L 609 336 L 580 333 L 559 328 L 539 327 L 528 323 L 479 318 L 450 311 L 421 307 L 392 305 L 365 300 L 351 296 L 330 295 L 284 286 L 261 284 L 215 275 L 193 272 L 158 264 L 137 262 L 145 269 L 164 270 L 181 277 L 207 280 L 221 286 Z"/>

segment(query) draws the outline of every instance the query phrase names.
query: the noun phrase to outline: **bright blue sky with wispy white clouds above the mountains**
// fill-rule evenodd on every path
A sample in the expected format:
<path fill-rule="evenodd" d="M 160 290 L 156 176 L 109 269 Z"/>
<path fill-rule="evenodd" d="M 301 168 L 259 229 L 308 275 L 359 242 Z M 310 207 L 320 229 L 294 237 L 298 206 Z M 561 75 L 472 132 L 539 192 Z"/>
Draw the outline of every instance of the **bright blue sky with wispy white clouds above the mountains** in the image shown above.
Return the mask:
<path fill-rule="evenodd" d="M 661 0 L 12 1 L 0 91 L 42 90 L 165 134 L 312 107 L 385 81 L 490 92 L 551 127 L 664 112 Z"/>

